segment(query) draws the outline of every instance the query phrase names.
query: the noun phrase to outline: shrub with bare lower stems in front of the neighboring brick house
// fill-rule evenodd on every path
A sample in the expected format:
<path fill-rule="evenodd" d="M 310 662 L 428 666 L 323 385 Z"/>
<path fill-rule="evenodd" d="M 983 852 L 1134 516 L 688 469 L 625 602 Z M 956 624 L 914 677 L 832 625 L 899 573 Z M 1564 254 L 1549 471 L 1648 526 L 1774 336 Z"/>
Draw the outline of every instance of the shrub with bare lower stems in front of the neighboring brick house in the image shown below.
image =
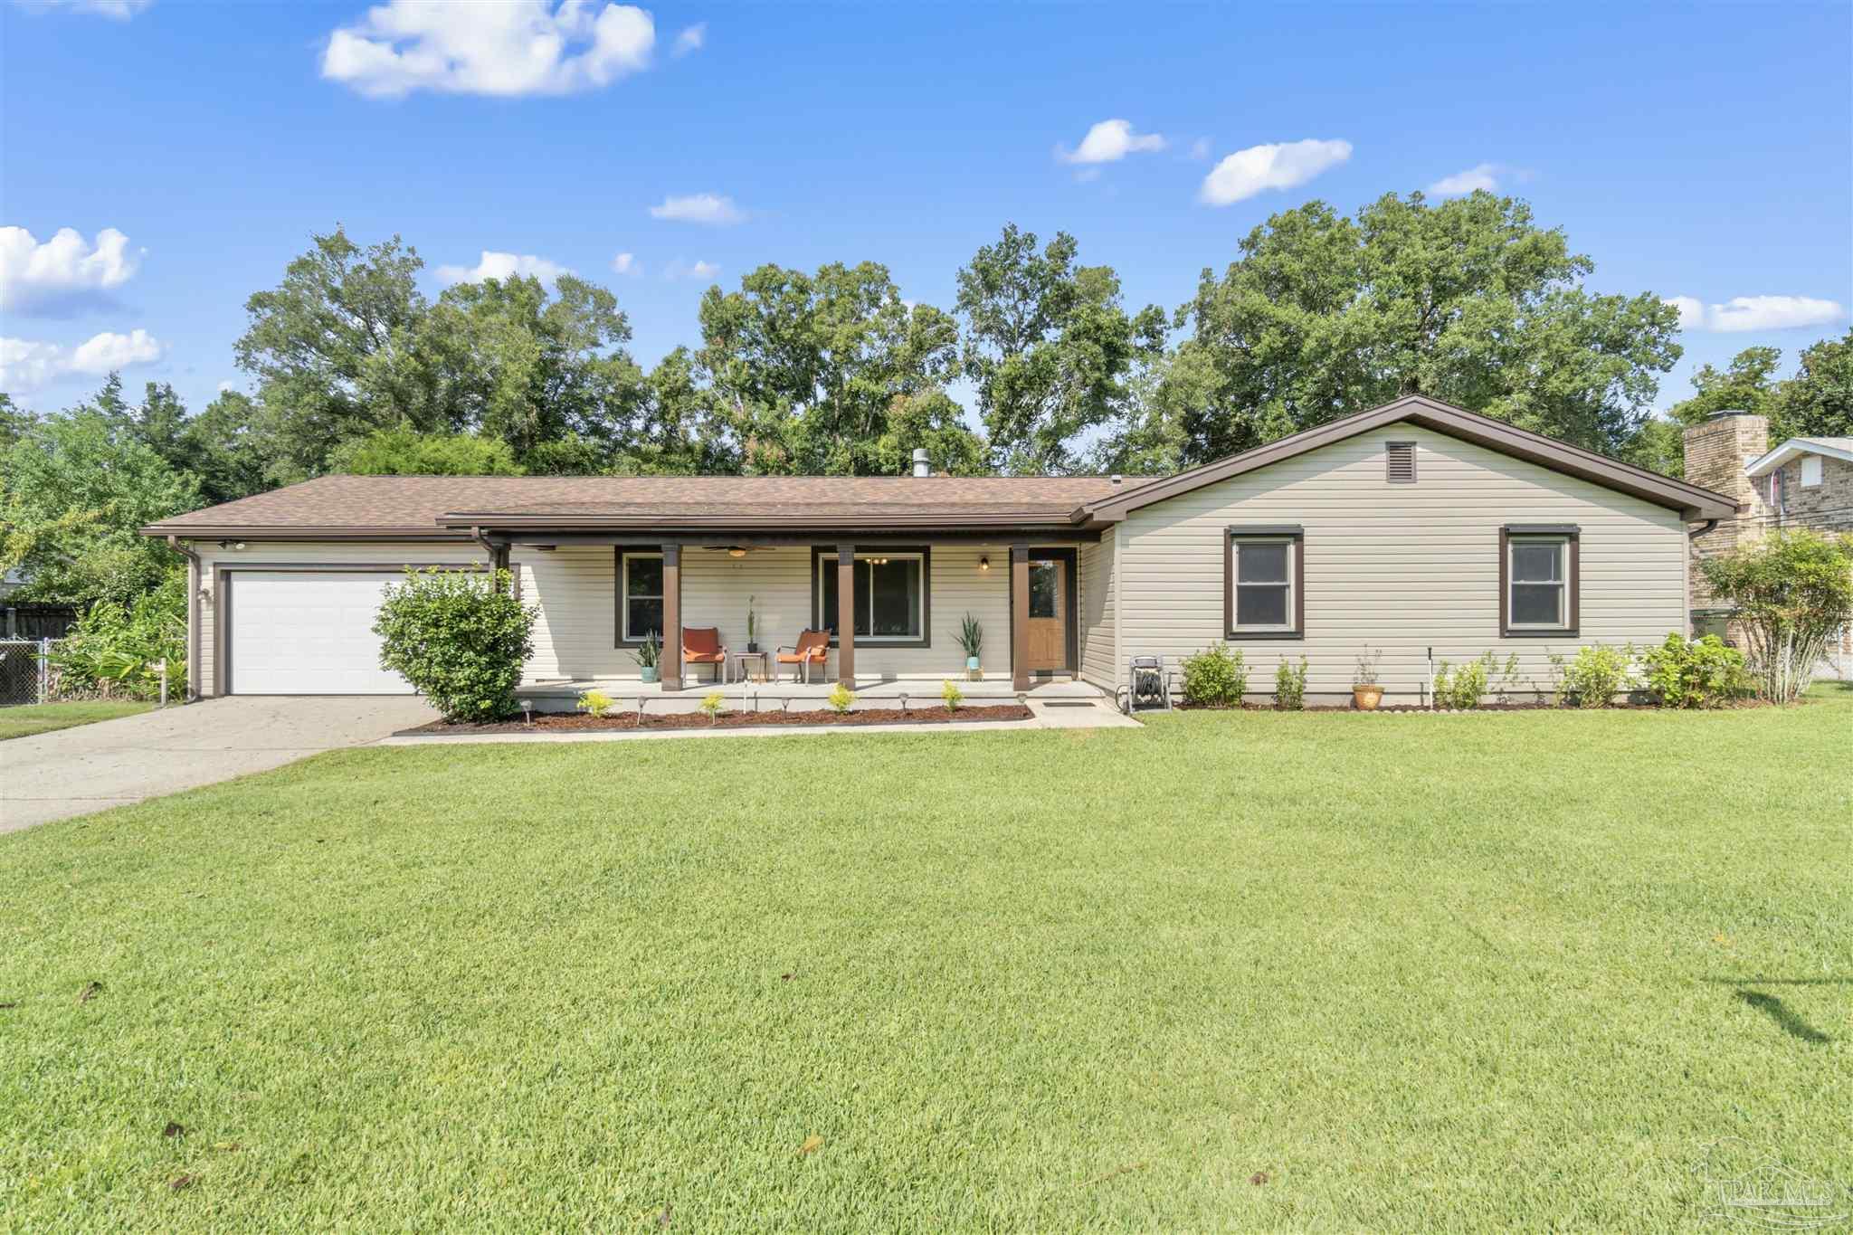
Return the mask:
<path fill-rule="evenodd" d="M 1736 605 L 1757 687 L 1794 704 L 1814 681 L 1827 641 L 1853 622 L 1853 537 L 1773 531 L 1699 568 L 1712 594 Z"/>

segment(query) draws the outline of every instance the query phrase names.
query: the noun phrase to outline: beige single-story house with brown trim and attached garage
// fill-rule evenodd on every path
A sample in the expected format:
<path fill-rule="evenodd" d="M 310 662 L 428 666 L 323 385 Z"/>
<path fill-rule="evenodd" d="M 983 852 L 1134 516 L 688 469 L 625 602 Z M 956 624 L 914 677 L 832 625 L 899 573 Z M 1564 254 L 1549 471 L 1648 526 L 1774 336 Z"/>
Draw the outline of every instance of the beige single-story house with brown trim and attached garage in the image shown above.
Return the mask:
<path fill-rule="evenodd" d="M 858 689 L 936 694 L 971 615 L 999 691 L 1112 692 L 1130 655 L 1227 641 L 1256 696 L 1306 657 L 1308 698 L 1349 698 L 1369 648 L 1410 702 L 1442 659 L 1518 654 L 1542 685 L 1551 654 L 1683 631 L 1688 530 L 1734 509 L 1410 396 L 1164 478 L 324 476 L 145 531 L 191 555 L 204 696 L 410 691 L 378 665 L 380 589 L 495 563 L 539 607 L 523 692 L 552 705 L 641 691 L 650 631 L 660 689 L 704 692 L 678 631 L 745 650 L 749 607 L 765 648 L 828 630 Z"/>

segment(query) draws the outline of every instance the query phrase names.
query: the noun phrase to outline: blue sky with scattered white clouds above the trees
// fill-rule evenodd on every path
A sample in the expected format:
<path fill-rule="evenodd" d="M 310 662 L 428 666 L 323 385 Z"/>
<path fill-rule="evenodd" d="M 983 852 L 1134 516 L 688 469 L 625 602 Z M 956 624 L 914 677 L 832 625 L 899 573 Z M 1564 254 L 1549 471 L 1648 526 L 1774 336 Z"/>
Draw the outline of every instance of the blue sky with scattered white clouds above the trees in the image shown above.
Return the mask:
<path fill-rule="evenodd" d="M 485 250 L 604 281 L 645 365 L 699 341 L 710 281 L 765 261 L 876 259 L 951 307 L 956 268 L 1015 220 L 1171 309 L 1273 211 L 1464 172 L 1562 226 L 1597 291 L 1690 298 L 1660 405 L 1746 346 L 1792 365 L 1853 306 L 1846 4 L 530 0 L 493 19 L 6 2 L 0 226 L 22 231 L 0 233 L 0 385 L 50 409 L 120 359 L 132 389 L 167 380 L 195 409 L 245 387 L 245 296 L 337 220 L 402 233 L 432 294 Z M 1084 144 L 1106 120 L 1128 128 Z M 728 206 L 663 211 L 700 194 Z M 1736 298 L 1757 300 L 1710 307 Z"/>

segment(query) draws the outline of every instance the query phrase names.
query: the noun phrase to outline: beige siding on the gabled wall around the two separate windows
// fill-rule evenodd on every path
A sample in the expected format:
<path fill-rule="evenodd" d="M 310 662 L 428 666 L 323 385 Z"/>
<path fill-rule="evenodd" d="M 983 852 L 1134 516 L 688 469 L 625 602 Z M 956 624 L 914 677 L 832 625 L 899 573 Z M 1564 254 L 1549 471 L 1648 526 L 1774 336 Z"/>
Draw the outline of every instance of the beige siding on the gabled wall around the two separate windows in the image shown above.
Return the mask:
<path fill-rule="evenodd" d="M 1418 443 L 1418 483 L 1384 481 L 1384 444 Z M 1499 528 L 1577 524 L 1581 635 L 1499 637 Z M 1551 652 L 1586 642 L 1658 642 L 1684 630 L 1684 522 L 1601 485 L 1393 424 L 1273 467 L 1132 511 L 1121 530 L 1116 596 L 1125 654 L 1175 663 L 1223 631 L 1229 524 L 1301 524 L 1306 630 L 1301 641 L 1232 641 L 1249 687 L 1273 689 L 1282 657 L 1310 663 L 1308 689 L 1349 692 L 1358 650 L 1382 648 L 1382 685 L 1416 696 L 1436 663 L 1516 652 L 1549 683 Z M 1117 668 L 1116 668 L 1117 672 Z"/>

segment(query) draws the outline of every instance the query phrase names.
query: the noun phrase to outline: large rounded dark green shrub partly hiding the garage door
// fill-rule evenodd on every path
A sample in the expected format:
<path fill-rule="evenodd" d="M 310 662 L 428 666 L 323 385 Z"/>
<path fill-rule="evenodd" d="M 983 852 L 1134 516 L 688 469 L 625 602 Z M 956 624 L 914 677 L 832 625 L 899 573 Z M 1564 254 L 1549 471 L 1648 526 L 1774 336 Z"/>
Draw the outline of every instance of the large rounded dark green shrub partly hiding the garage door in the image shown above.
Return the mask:
<path fill-rule="evenodd" d="M 447 720 L 515 711 L 537 609 L 510 594 L 508 570 L 406 570 L 372 624 L 380 665 L 404 674 Z"/>

